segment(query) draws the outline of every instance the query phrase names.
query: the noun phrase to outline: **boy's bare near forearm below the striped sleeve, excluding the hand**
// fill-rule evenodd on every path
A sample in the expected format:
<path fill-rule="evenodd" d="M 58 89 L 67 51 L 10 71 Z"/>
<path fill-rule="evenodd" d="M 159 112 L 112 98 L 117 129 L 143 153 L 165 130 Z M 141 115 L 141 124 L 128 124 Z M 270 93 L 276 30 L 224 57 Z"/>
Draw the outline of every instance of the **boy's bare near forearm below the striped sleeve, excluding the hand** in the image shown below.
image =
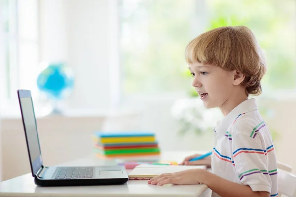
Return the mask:
<path fill-rule="evenodd" d="M 270 197 L 269 192 L 253 192 L 248 185 L 228 181 L 208 171 L 204 171 L 204 173 L 205 180 L 202 180 L 201 183 L 206 184 L 222 197 Z"/>

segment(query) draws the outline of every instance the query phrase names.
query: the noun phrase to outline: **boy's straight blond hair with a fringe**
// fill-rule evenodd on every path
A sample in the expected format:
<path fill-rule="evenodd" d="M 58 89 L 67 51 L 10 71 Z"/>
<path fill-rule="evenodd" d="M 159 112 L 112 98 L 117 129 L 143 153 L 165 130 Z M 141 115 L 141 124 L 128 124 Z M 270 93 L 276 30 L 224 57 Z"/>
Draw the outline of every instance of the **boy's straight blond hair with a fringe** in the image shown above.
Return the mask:
<path fill-rule="evenodd" d="M 241 83 L 246 95 L 260 95 L 266 72 L 265 58 L 255 35 L 245 26 L 219 27 L 193 39 L 185 50 L 188 64 L 195 62 L 237 70 L 245 75 Z"/>

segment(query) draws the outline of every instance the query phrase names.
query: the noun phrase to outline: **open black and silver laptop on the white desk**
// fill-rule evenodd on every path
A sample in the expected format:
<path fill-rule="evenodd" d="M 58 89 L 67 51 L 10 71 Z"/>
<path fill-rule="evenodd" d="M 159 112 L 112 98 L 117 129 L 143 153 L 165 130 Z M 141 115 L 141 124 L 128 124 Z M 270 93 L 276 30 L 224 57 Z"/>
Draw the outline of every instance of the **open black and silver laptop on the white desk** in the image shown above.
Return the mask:
<path fill-rule="evenodd" d="M 18 90 L 27 150 L 34 182 L 39 186 L 115 185 L 128 181 L 124 166 L 44 166 L 30 90 Z"/>

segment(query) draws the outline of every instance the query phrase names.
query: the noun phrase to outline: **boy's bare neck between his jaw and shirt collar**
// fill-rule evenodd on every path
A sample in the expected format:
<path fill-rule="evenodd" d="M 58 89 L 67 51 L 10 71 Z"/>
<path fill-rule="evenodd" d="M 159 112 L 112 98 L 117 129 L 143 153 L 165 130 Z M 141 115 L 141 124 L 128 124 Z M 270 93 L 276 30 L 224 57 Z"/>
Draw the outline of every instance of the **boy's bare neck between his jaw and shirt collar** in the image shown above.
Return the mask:
<path fill-rule="evenodd" d="M 245 92 L 237 92 L 236 94 L 231 94 L 221 107 L 219 107 L 220 111 L 224 116 L 227 116 L 236 106 L 238 106 L 243 101 L 247 100 L 248 97 Z"/>

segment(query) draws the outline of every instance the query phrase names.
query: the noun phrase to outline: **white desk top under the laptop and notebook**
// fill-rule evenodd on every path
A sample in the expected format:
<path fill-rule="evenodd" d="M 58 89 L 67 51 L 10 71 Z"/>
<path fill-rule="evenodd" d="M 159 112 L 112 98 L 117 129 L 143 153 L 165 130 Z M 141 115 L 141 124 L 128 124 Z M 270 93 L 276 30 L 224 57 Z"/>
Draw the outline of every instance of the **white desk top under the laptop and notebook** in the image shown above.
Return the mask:
<path fill-rule="evenodd" d="M 180 161 L 192 152 L 164 152 L 162 160 Z M 114 160 L 102 160 L 91 154 L 59 166 L 116 165 Z M 39 187 L 34 178 L 25 174 L 0 183 L 0 197 L 208 197 L 206 185 L 148 185 L 147 181 L 128 181 L 123 185 Z"/>

